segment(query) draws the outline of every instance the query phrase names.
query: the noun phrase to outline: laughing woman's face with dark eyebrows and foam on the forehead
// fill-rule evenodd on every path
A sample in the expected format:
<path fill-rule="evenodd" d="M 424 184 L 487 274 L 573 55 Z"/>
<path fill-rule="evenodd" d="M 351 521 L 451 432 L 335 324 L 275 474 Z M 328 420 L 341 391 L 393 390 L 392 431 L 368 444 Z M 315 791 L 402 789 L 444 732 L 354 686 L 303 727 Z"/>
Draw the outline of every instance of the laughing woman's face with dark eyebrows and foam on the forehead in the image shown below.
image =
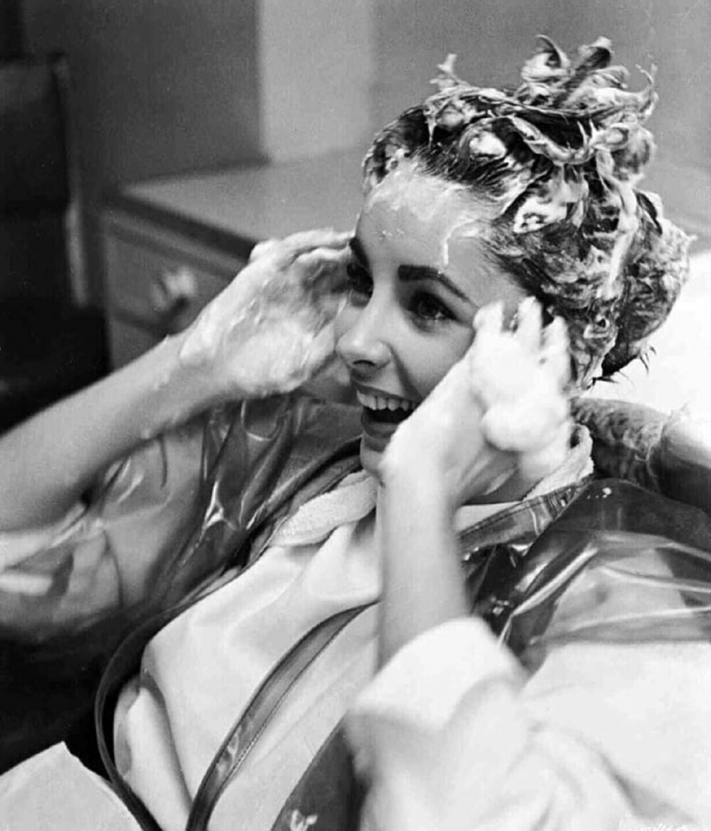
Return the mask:
<path fill-rule="evenodd" d="M 476 311 L 525 294 L 487 258 L 486 208 L 457 185 L 403 164 L 371 189 L 348 263 L 338 354 L 363 406 L 361 460 L 388 440 L 472 343 Z"/>

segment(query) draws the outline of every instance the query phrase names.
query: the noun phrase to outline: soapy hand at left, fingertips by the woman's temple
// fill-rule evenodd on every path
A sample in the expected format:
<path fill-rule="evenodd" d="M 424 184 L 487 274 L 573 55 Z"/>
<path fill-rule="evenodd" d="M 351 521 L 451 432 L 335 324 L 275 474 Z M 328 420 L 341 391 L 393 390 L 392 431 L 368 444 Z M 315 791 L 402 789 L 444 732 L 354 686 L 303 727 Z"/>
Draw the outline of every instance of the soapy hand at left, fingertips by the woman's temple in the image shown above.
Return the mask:
<path fill-rule="evenodd" d="M 333 354 L 351 236 L 314 230 L 259 243 L 184 333 L 180 361 L 210 373 L 218 397 L 303 384 Z"/>

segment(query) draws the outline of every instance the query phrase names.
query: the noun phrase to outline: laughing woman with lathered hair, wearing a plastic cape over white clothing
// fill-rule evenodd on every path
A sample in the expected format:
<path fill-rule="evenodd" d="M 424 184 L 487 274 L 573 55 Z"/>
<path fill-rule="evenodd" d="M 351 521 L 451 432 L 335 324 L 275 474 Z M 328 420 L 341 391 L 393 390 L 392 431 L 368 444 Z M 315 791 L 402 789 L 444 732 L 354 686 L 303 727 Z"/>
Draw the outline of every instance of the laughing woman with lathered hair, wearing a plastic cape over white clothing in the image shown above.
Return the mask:
<path fill-rule="evenodd" d="M 354 235 L 258 246 L 0 440 L 7 666 L 75 711 L 101 675 L 141 828 L 711 827 L 711 499 L 679 485 L 711 474 L 575 402 L 687 268 L 637 189 L 651 78 L 610 56 L 543 39 L 510 91 L 447 61 Z M 334 352 L 358 406 L 303 394 Z"/>

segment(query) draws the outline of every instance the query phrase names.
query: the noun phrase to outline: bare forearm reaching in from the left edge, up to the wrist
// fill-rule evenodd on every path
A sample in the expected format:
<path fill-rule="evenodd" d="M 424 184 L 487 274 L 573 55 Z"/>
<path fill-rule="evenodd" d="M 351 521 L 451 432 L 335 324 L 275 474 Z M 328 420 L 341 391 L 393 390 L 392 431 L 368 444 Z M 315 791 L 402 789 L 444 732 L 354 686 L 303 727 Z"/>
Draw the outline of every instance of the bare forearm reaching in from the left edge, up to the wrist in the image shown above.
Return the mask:
<path fill-rule="evenodd" d="M 0 529 L 61 519 L 106 465 L 210 406 L 205 372 L 180 336 L 0 438 Z"/>

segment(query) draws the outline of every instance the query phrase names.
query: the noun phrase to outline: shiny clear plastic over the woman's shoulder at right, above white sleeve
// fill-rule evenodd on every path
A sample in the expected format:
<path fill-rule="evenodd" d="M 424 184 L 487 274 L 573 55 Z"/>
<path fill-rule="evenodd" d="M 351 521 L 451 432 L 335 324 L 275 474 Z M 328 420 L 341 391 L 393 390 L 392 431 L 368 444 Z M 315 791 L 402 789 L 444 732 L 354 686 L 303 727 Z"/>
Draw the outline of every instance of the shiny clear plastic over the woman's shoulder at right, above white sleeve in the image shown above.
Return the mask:
<path fill-rule="evenodd" d="M 617 479 L 590 484 L 501 588 L 527 666 L 563 643 L 711 640 L 711 518 Z"/>

